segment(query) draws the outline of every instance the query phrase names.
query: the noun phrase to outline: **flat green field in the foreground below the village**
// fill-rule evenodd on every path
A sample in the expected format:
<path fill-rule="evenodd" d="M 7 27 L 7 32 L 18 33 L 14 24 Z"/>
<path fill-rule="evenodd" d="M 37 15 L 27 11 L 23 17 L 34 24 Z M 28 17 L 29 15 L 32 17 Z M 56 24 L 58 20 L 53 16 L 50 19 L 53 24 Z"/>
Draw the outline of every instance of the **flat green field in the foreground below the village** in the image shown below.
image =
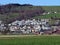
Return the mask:
<path fill-rule="evenodd" d="M 60 45 L 60 36 L 0 36 L 0 45 Z"/>

